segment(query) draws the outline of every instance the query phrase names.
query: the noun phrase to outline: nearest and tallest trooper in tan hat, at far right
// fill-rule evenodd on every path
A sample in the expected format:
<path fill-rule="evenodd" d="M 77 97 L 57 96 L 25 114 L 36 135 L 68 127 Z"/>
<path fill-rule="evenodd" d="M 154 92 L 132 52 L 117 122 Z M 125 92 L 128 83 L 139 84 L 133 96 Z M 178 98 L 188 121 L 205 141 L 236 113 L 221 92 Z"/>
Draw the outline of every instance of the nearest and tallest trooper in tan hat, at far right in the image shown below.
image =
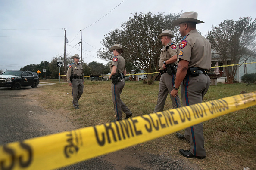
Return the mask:
<path fill-rule="evenodd" d="M 197 32 L 196 24 L 203 23 L 197 19 L 197 12 L 185 12 L 173 22 L 179 25 L 184 38 L 178 46 L 178 68 L 175 85 L 171 95 L 176 97 L 181 86 L 183 106 L 201 103 L 210 86 L 208 72 L 211 70 L 211 44 Z M 180 149 L 187 158 L 205 158 L 203 123 L 185 129 L 185 134 L 176 134 L 181 140 L 190 141 L 190 149 Z"/>

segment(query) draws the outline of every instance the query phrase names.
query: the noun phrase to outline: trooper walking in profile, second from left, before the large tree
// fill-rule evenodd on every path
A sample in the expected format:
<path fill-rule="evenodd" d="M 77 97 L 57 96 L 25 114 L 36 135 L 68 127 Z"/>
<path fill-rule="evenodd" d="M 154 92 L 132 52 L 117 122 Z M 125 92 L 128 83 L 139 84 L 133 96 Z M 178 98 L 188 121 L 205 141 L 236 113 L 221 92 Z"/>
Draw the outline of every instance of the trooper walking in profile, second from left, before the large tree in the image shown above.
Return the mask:
<path fill-rule="evenodd" d="M 109 49 L 110 52 L 113 52 L 114 58 L 111 63 L 111 73 L 109 75 L 109 79 L 112 79 L 112 75 L 119 74 L 118 83 L 114 84 L 113 80 L 111 83 L 111 91 L 112 91 L 112 101 L 114 103 L 114 109 L 116 112 L 116 119 L 114 121 L 122 120 L 122 111 L 126 114 L 125 119 L 130 118 L 132 116 L 131 110 L 125 105 L 125 103 L 120 99 L 120 95 L 122 93 L 123 88 L 125 87 L 125 59 L 122 57 L 121 53 L 123 53 L 122 45 L 115 44 Z M 111 122 L 114 122 L 111 121 Z"/>

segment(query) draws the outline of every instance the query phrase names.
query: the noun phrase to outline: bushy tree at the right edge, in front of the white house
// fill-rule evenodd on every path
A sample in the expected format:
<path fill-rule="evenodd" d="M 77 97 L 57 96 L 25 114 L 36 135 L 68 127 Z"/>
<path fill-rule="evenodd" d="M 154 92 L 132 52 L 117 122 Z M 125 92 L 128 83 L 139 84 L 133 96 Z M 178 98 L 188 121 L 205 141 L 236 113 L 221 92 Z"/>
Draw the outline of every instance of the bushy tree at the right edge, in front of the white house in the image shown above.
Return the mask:
<path fill-rule="evenodd" d="M 225 20 L 219 26 L 212 26 L 206 38 L 224 65 L 245 62 L 256 51 L 256 19 Z M 237 67 L 224 67 L 228 83 L 233 82 Z"/>

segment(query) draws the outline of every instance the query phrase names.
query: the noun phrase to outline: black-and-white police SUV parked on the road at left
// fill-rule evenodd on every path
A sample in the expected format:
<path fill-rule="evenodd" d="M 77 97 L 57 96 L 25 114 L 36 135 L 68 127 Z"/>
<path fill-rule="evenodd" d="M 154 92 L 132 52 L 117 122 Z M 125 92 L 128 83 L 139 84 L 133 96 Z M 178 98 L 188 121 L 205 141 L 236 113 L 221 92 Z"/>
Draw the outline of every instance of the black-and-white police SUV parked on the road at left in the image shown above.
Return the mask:
<path fill-rule="evenodd" d="M 19 90 L 21 86 L 36 88 L 39 84 L 37 73 L 26 70 L 7 70 L 0 75 L 0 87 Z"/>

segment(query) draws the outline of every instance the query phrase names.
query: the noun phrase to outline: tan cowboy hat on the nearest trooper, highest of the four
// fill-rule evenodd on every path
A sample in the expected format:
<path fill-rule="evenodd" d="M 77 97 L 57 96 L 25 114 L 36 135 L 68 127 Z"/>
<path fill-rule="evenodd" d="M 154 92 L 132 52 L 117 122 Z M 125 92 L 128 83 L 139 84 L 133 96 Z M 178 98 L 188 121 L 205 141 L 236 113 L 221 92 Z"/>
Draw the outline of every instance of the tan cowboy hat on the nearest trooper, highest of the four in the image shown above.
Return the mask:
<path fill-rule="evenodd" d="M 197 24 L 204 23 L 203 21 L 197 19 L 197 12 L 194 11 L 184 12 L 183 14 L 181 14 L 181 18 L 173 21 L 172 25 L 177 26 L 182 22 L 195 22 Z"/>

